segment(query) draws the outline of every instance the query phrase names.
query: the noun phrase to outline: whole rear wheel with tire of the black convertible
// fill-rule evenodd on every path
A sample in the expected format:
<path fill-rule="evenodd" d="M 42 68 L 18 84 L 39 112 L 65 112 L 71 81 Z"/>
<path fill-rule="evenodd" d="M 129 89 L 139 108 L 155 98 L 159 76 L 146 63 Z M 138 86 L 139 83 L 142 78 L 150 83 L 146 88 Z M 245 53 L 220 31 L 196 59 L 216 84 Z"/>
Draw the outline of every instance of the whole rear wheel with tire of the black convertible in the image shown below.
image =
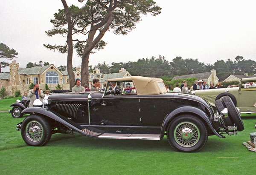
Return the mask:
<path fill-rule="evenodd" d="M 169 123 L 167 140 L 177 151 L 198 152 L 207 139 L 207 127 L 194 115 L 180 115 Z"/>

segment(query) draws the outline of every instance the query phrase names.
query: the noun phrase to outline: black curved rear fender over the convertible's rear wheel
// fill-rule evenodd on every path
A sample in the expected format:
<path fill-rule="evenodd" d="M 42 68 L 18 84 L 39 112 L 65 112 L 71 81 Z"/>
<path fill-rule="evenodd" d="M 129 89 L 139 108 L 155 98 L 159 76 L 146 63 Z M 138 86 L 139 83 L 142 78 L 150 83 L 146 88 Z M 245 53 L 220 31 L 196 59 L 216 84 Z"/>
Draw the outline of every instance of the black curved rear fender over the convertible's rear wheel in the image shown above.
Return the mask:
<path fill-rule="evenodd" d="M 222 135 L 220 135 L 213 127 L 212 127 L 212 123 L 209 120 L 208 116 L 201 111 L 200 109 L 196 108 L 196 107 L 192 107 L 192 106 L 182 106 L 180 108 L 175 109 L 174 111 L 172 111 L 169 115 L 166 116 L 166 118 L 163 121 L 163 126 L 162 126 L 162 130 L 161 130 L 161 138 L 163 138 L 164 136 L 164 132 L 166 131 L 166 127 L 167 124 L 170 120 L 172 120 L 172 118 L 174 118 L 175 116 L 182 114 L 182 113 L 193 113 L 199 117 L 201 117 L 201 119 L 204 120 L 205 123 L 207 123 L 207 126 L 209 126 L 209 128 L 212 130 L 212 132 L 217 135 L 220 138 L 224 138 Z"/>

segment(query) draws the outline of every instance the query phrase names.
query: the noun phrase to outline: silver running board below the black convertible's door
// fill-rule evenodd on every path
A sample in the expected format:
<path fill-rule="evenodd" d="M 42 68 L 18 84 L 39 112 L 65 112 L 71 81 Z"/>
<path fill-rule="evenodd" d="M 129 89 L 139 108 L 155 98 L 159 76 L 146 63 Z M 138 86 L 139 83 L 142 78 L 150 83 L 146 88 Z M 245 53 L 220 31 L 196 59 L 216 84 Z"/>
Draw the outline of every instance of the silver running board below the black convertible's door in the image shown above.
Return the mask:
<path fill-rule="evenodd" d="M 115 138 L 115 139 L 143 139 L 143 140 L 160 140 L 158 134 L 107 134 L 99 135 L 98 138 Z"/>

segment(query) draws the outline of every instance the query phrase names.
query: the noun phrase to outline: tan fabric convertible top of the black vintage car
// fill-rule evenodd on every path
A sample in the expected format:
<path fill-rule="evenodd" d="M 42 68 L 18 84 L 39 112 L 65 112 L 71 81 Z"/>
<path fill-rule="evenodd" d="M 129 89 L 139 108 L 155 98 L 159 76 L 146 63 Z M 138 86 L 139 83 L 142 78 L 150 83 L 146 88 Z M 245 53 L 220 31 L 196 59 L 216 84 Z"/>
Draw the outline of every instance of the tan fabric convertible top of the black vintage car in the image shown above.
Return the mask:
<path fill-rule="evenodd" d="M 167 92 L 161 78 L 131 76 L 108 79 L 107 81 L 133 81 L 137 95 L 155 95 Z"/>

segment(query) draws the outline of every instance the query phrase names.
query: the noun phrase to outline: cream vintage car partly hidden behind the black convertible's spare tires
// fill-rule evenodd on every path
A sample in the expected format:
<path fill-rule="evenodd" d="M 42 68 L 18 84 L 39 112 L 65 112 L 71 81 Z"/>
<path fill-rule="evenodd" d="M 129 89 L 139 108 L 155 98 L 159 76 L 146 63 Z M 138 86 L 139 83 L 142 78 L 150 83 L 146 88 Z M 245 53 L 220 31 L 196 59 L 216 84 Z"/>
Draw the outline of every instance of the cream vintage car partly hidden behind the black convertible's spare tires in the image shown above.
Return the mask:
<path fill-rule="evenodd" d="M 256 77 L 242 78 L 239 87 L 197 90 L 194 93 L 212 106 L 215 106 L 215 100 L 229 96 L 241 113 L 256 113 Z"/>

